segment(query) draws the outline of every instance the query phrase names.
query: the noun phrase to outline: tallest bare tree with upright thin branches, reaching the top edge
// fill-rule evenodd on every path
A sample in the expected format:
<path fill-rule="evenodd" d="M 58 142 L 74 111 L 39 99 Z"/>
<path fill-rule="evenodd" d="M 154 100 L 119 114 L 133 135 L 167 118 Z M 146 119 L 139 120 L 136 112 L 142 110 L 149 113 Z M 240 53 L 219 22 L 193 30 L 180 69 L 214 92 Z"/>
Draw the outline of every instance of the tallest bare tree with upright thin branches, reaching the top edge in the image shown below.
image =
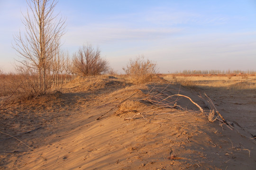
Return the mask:
<path fill-rule="evenodd" d="M 26 32 L 14 37 L 13 48 L 23 59 L 25 67 L 34 68 L 38 75 L 38 89 L 46 91 L 46 69 L 49 68 L 53 52 L 58 48 L 64 34 L 65 19 L 54 15 L 56 0 L 27 0 L 27 13 L 22 14 Z"/>

